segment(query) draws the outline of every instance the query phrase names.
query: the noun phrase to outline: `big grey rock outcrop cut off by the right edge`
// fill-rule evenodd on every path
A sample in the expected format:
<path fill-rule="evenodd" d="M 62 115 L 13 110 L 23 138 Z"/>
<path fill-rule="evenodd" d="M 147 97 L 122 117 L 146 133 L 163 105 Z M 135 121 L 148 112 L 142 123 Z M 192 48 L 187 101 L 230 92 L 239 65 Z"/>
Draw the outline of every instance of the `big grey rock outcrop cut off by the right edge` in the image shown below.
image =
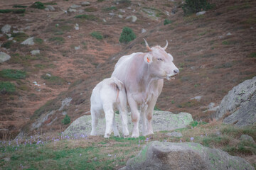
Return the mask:
<path fill-rule="evenodd" d="M 256 122 L 256 77 L 243 81 L 229 91 L 213 118 L 219 120 L 227 113 L 230 115 L 223 120 L 224 123 L 245 126 Z"/>

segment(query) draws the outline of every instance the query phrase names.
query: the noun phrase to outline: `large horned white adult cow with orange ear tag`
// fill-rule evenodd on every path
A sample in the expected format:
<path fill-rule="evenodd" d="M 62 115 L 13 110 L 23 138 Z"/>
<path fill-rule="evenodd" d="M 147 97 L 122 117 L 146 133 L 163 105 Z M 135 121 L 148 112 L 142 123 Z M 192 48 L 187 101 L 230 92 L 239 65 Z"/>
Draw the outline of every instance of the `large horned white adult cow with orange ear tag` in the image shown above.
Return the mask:
<path fill-rule="evenodd" d="M 124 83 L 127 100 L 132 111 L 134 128 L 132 137 L 139 137 L 139 118 L 142 115 L 142 135 L 153 134 L 151 119 L 157 98 L 163 89 L 164 79 L 172 79 L 178 74 L 174 58 L 167 53 L 166 46 L 149 47 L 149 52 L 137 52 L 121 57 L 114 67 L 112 77 Z M 138 106 L 140 106 L 141 114 Z"/>

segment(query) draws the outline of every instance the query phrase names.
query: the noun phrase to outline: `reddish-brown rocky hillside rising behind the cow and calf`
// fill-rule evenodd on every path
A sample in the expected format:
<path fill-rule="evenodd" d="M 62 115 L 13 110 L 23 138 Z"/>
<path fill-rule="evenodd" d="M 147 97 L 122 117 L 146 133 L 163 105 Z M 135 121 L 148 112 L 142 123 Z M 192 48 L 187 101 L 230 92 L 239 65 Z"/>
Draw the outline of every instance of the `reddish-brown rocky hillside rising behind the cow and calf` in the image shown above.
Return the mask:
<path fill-rule="evenodd" d="M 1 1 L 1 11 L 13 9 L 0 13 L 0 50 L 11 57 L 0 64 L 0 81 L 12 87 L 1 89 L 1 138 L 21 128 L 60 132 L 68 126 L 61 123 L 65 115 L 73 121 L 90 114 L 95 84 L 110 77 L 122 55 L 146 52 L 143 38 L 150 46 L 168 40 L 166 51 L 181 71 L 164 83 L 156 103 L 163 111 L 208 121 L 215 112 L 209 107 L 256 75 L 255 1 L 213 0 L 200 16 L 184 16 L 179 0 L 42 2 L 46 8 Z M 119 43 L 124 26 L 137 35 L 128 44 Z M 28 38 L 33 45 L 22 44 Z"/>

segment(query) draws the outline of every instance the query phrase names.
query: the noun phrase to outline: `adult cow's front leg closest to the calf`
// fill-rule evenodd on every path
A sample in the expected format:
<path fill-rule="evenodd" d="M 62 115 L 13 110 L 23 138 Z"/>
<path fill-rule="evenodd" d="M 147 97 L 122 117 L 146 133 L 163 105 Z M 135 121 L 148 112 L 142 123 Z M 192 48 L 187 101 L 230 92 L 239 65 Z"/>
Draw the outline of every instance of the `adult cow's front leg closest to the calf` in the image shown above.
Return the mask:
<path fill-rule="evenodd" d="M 136 101 L 132 97 L 128 97 L 129 106 L 132 111 L 132 123 L 134 128 L 132 130 L 132 137 L 139 137 L 139 111 Z"/>

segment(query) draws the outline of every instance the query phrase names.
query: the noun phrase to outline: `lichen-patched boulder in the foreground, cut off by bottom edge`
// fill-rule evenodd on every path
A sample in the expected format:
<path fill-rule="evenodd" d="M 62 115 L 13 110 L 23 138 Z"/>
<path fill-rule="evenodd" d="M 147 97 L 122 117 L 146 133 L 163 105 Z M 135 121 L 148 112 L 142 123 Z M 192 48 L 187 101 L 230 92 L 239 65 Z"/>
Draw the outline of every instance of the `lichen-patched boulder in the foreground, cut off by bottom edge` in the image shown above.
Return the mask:
<path fill-rule="evenodd" d="M 197 143 L 149 142 L 122 169 L 254 169 L 245 159 Z"/>

